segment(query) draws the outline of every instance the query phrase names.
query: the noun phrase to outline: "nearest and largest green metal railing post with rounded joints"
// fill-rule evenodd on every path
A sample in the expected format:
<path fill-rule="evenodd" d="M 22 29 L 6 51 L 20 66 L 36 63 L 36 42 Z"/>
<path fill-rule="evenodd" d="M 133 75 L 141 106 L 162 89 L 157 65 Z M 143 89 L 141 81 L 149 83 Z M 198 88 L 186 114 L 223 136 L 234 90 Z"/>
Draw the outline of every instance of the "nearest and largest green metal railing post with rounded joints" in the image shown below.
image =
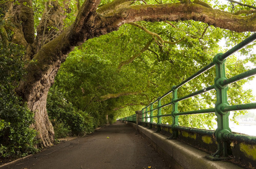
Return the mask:
<path fill-rule="evenodd" d="M 218 150 L 216 153 L 211 156 L 207 156 L 211 160 L 222 160 L 227 159 L 228 157 L 228 140 L 225 139 L 225 135 L 230 133 L 229 128 L 229 111 L 222 111 L 223 106 L 228 106 L 227 101 L 227 90 L 228 86 L 222 86 L 221 81 L 227 79 L 225 74 L 225 62 L 226 60 L 221 60 L 222 53 L 217 54 L 214 57 L 214 63 L 216 65 L 216 77 L 214 79 L 214 85 L 217 95 L 217 101 L 215 103 L 215 114 L 217 116 L 218 128 L 215 131 L 215 137 L 218 142 Z"/>

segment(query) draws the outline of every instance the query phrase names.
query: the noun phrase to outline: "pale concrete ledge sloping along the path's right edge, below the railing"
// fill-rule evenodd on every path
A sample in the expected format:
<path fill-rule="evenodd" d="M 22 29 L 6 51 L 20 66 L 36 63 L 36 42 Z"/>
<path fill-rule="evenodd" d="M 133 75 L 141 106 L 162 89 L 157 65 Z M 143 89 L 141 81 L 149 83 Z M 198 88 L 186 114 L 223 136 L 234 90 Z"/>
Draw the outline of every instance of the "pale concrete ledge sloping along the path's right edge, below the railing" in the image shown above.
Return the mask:
<path fill-rule="evenodd" d="M 209 155 L 203 151 L 200 151 L 194 147 L 191 147 L 185 143 L 179 142 L 175 139 L 167 139 L 167 136 L 161 133 L 156 133 L 154 130 L 147 129 L 134 123 L 125 122 L 126 124 L 132 125 L 137 128 L 139 133 L 142 134 L 148 142 L 155 148 L 155 150 L 165 159 L 171 168 L 191 168 L 191 169 L 223 169 L 241 168 L 230 162 L 225 161 L 211 161 L 205 158 Z"/>

